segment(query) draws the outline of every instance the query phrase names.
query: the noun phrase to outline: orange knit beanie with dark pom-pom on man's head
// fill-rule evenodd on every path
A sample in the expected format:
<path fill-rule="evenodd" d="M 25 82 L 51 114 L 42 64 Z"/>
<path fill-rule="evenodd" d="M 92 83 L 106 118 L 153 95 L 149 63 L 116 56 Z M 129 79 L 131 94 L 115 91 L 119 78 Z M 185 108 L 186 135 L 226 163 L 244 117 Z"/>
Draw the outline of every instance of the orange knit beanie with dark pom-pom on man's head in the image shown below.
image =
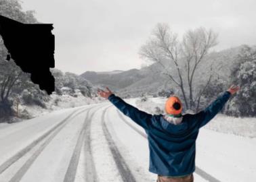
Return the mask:
<path fill-rule="evenodd" d="M 175 109 L 173 107 L 173 104 L 179 103 L 180 108 Z M 182 102 L 180 102 L 179 98 L 177 96 L 170 96 L 167 101 L 165 102 L 165 112 L 169 115 L 179 115 L 182 113 Z"/>

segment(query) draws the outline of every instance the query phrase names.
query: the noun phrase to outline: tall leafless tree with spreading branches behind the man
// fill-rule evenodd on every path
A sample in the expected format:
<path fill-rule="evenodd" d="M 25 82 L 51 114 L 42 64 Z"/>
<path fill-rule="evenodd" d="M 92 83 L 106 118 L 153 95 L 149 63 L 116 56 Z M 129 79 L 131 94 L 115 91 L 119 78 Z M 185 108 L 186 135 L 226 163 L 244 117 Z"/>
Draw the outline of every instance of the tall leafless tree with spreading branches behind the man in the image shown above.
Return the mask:
<path fill-rule="evenodd" d="M 189 30 L 184 34 L 183 40 L 179 41 L 177 34 L 172 32 L 167 24 L 157 24 L 152 37 L 141 47 L 140 55 L 163 67 L 164 74 L 181 90 L 186 109 L 197 109 L 204 88 L 195 93 L 194 75 L 209 49 L 216 44 L 217 34 L 213 30 Z M 211 78 L 209 73 L 205 87 L 211 82 Z"/>

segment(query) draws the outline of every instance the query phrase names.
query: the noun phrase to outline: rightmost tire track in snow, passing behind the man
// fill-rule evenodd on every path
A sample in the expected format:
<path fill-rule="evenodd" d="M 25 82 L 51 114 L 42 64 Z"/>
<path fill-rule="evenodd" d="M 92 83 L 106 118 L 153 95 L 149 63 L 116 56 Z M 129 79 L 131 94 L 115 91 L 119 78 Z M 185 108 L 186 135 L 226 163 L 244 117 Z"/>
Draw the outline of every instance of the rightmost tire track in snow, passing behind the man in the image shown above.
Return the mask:
<path fill-rule="evenodd" d="M 129 125 L 129 127 L 131 127 L 132 129 L 134 129 L 137 133 L 139 133 L 143 138 L 145 138 L 146 140 L 148 140 L 148 136 L 146 135 L 146 133 L 143 133 L 142 131 L 140 131 L 140 129 L 137 129 L 136 127 L 134 127 L 133 125 L 131 125 L 131 123 L 129 123 L 129 121 L 127 121 L 125 119 L 125 117 L 123 117 L 123 115 L 120 113 L 119 110 L 116 109 L 116 112 L 118 113 L 119 117 L 127 124 Z M 200 169 L 198 166 L 196 166 L 196 171 L 195 173 L 197 175 L 199 175 L 200 177 L 202 177 L 203 179 L 210 181 L 210 182 L 221 182 L 218 179 L 216 179 L 215 177 L 213 177 L 212 175 L 210 175 L 209 173 L 203 171 L 202 169 Z"/>

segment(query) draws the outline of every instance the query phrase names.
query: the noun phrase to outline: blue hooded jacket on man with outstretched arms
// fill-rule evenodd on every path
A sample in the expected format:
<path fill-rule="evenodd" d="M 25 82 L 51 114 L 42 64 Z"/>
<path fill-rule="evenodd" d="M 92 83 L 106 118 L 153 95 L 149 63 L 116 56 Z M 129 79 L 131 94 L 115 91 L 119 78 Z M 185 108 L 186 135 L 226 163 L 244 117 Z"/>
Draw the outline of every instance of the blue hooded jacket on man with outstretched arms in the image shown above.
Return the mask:
<path fill-rule="evenodd" d="M 164 176 L 183 176 L 195 171 L 196 138 L 200 127 L 206 125 L 230 98 L 226 91 L 209 107 L 195 115 L 183 115 L 182 123 L 173 125 L 163 115 L 150 115 L 111 94 L 108 100 L 123 114 L 143 127 L 150 149 L 149 171 Z"/>

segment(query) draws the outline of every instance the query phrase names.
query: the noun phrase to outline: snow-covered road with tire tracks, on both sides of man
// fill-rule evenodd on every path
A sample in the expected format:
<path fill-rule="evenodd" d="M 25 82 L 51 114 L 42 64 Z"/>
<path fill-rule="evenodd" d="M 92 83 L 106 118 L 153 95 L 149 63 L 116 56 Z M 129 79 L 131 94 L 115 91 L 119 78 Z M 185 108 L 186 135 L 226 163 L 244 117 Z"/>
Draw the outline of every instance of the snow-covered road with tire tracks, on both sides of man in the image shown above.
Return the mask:
<path fill-rule="evenodd" d="M 0 181 L 156 181 L 144 130 L 104 102 L 0 128 Z M 194 181 L 256 181 L 256 140 L 201 129 Z"/>

